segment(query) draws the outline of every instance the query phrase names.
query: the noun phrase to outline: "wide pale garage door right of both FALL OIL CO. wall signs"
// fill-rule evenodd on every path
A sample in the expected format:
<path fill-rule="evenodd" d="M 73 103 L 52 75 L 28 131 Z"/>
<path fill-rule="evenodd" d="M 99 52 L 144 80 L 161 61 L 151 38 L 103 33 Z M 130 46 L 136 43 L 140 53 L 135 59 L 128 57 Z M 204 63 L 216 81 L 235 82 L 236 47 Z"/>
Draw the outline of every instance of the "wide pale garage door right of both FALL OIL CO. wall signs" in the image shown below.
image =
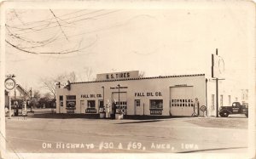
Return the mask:
<path fill-rule="evenodd" d="M 170 88 L 170 109 L 172 116 L 191 116 L 194 112 L 193 87 Z"/>

